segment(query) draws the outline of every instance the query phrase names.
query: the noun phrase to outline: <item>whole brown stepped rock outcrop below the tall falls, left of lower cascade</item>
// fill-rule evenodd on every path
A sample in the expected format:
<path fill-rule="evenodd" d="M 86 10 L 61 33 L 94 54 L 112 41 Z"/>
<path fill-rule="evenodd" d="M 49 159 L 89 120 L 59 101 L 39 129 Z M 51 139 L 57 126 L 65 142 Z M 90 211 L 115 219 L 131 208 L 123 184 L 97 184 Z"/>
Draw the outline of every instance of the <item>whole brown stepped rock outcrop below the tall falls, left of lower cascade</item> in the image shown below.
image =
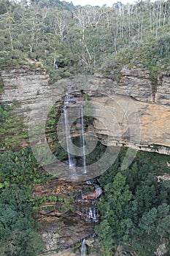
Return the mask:
<path fill-rule="evenodd" d="M 90 219 L 86 221 L 77 214 L 77 209 L 81 211 L 84 208 L 88 212 L 88 208 L 96 205 L 96 197 L 88 202 L 83 199 L 83 195 L 90 195 L 92 189 L 93 185 L 86 182 L 58 179 L 35 187 L 33 196 L 36 200 L 44 200 L 44 203 L 39 206 L 34 217 L 40 224 L 39 235 L 49 255 L 53 255 L 56 249 L 68 249 L 81 243 L 83 238 L 93 236 L 96 222 Z M 50 202 L 51 199 L 53 202 Z"/>

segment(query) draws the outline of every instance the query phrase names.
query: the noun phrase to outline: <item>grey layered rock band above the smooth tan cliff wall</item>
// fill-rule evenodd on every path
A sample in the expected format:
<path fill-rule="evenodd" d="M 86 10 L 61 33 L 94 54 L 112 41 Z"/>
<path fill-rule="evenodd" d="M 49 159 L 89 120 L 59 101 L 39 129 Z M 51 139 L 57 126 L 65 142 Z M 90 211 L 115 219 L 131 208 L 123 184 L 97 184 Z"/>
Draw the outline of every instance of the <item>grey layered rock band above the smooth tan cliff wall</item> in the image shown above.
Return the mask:
<path fill-rule="evenodd" d="M 120 77 L 105 78 L 96 74 L 88 83 L 88 89 L 112 96 L 120 94 L 142 102 L 155 102 L 161 105 L 170 105 L 170 74 L 162 72 L 160 77 L 150 77 L 150 71 L 142 69 L 122 69 Z"/>

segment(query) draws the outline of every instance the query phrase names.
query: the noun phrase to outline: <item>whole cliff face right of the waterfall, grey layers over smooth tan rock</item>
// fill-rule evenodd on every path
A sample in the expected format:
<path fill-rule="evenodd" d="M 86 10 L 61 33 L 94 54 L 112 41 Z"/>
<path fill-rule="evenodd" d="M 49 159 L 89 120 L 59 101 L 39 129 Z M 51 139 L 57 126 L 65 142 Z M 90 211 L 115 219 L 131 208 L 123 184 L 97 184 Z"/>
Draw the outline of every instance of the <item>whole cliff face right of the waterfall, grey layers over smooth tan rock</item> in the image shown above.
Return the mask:
<path fill-rule="evenodd" d="M 87 94 L 92 97 L 98 136 L 147 151 L 158 151 L 152 144 L 169 147 L 170 76 L 162 74 L 153 85 L 147 71 L 125 69 L 122 75 L 118 82 L 101 76 L 90 80 Z M 169 154 L 169 148 L 159 153 Z"/>

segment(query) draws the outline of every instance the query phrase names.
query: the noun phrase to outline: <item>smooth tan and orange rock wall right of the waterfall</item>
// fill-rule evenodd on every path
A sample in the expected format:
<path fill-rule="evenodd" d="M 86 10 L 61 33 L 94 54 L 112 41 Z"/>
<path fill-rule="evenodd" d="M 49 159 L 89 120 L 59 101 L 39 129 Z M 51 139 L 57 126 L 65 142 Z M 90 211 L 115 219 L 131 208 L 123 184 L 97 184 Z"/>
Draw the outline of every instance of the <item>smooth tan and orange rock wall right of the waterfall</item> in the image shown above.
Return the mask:
<path fill-rule="evenodd" d="M 146 102 L 131 102 L 125 96 L 92 99 L 96 121 L 94 128 L 101 139 L 117 143 L 170 146 L 170 107 Z M 133 104 L 132 104 L 133 103 Z M 115 113 L 113 114 L 113 111 Z M 115 118 L 115 120 L 114 120 Z M 105 136 L 104 136 L 105 135 Z"/>

